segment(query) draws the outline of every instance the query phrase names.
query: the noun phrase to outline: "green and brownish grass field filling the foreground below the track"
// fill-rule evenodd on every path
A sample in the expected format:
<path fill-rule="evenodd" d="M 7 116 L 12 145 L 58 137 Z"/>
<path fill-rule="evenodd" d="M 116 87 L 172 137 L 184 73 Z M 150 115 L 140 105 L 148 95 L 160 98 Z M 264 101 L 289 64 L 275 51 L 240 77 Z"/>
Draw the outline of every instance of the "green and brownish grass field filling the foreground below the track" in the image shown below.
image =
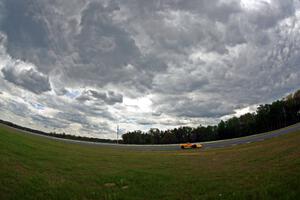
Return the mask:
<path fill-rule="evenodd" d="M 217 150 L 68 144 L 0 125 L 0 199 L 298 199 L 300 132 Z"/>

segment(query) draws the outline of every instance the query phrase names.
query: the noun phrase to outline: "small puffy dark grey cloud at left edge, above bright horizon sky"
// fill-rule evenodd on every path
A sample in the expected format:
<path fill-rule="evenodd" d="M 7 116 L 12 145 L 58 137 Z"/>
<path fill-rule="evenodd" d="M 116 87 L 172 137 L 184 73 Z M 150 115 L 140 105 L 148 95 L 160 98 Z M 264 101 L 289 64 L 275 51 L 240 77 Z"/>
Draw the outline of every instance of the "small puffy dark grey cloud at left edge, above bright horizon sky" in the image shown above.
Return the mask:
<path fill-rule="evenodd" d="M 15 66 L 6 66 L 1 71 L 7 81 L 36 94 L 51 90 L 49 78 L 33 68 L 18 69 Z"/>

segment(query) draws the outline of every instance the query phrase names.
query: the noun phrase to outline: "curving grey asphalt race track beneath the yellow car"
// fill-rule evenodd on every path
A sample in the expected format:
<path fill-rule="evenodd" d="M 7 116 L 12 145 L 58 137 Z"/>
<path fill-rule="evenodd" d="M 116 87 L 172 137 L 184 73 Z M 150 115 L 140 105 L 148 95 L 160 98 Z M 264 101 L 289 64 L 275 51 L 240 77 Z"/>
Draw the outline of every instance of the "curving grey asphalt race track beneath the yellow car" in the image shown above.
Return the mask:
<path fill-rule="evenodd" d="M 4 125 L 3 125 L 4 126 Z M 6 126 L 6 125 L 5 125 Z M 12 128 L 12 127 L 10 127 Z M 12 128 L 16 129 L 16 128 Z M 36 133 L 31 133 L 28 131 L 23 131 L 20 129 L 16 129 L 22 133 L 36 135 L 40 137 L 46 137 L 52 140 L 63 141 L 66 143 L 74 143 L 74 144 L 83 144 L 83 145 L 96 145 L 96 146 L 103 146 L 103 147 L 111 147 L 111 148 L 119 148 L 119 149 L 130 149 L 130 150 L 146 150 L 146 151 L 172 151 L 172 150 L 180 150 L 179 144 L 165 144 L 165 145 L 131 145 L 131 144 L 111 144 L 111 143 L 100 143 L 100 142 L 87 142 L 87 141 L 79 141 L 79 140 L 70 140 L 70 139 L 63 139 L 63 138 L 56 138 Z M 260 142 L 270 138 L 278 137 L 280 135 L 292 133 L 295 131 L 300 130 L 300 123 L 288 126 L 283 129 L 267 132 L 267 133 L 260 133 L 256 135 L 234 138 L 234 139 L 227 139 L 227 140 L 217 140 L 212 142 L 201 142 L 203 147 L 201 149 L 215 149 L 215 148 L 225 148 L 231 147 L 241 144 L 249 144 L 253 142 Z"/>

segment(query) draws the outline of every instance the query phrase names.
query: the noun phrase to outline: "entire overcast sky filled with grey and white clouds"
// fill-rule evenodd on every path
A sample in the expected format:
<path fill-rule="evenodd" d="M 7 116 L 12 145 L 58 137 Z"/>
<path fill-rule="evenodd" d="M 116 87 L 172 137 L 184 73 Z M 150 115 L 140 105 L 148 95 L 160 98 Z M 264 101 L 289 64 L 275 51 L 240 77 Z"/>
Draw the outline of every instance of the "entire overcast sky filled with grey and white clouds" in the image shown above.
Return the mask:
<path fill-rule="evenodd" d="M 300 87 L 298 0 L 1 0 L 0 118 L 114 138 Z"/>

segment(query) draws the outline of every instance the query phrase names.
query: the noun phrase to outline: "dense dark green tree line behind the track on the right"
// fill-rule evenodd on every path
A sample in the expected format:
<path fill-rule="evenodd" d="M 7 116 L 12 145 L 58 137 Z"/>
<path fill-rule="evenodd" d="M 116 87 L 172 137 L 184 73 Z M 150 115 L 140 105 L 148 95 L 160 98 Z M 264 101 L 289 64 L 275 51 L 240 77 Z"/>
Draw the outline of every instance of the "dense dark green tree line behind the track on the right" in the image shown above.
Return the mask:
<path fill-rule="evenodd" d="M 169 130 L 152 128 L 122 135 L 124 144 L 174 144 L 204 142 L 253 135 L 300 122 L 300 90 L 282 100 L 258 106 L 255 113 L 232 117 L 215 126 L 183 126 Z"/>

